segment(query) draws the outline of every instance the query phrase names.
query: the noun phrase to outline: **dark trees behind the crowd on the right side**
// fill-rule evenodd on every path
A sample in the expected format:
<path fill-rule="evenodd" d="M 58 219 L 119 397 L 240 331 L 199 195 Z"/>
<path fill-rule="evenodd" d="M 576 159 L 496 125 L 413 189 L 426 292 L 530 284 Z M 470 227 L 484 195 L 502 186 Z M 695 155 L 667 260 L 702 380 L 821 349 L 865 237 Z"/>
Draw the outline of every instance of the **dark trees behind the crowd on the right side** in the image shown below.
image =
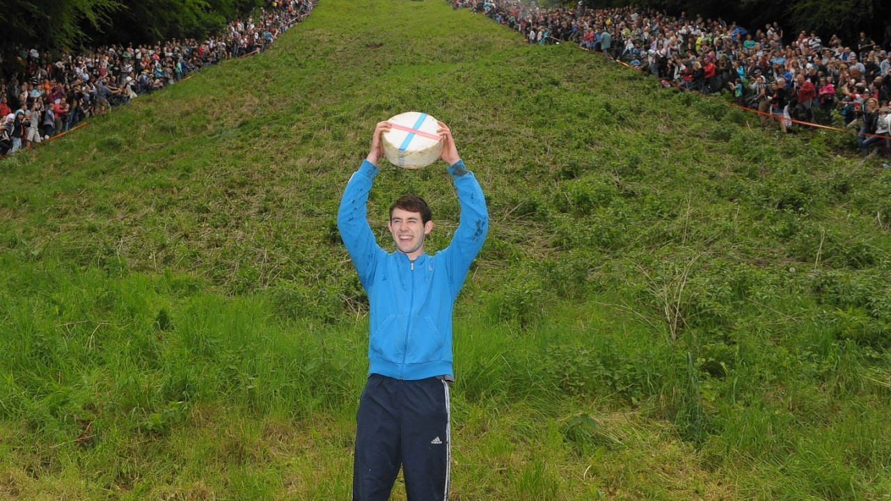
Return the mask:
<path fill-rule="evenodd" d="M 575 4 L 575 2 L 572 2 Z M 583 0 L 591 8 L 622 7 L 627 0 Z M 833 34 L 854 47 L 860 32 L 865 31 L 882 46 L 891 45 L 891 2 L 887 0 L 637 0 L 638 8 L 651 8 L 670 15 L 687 12 L 688 18 L 721 17 L 736 21 L 754 31 L 764 24 L 777 21 L 785 38 L 794 38 L 802 30 L 815 31 L 824 42 Z M 855 48 L 855 47 L 854 47 Z"/>

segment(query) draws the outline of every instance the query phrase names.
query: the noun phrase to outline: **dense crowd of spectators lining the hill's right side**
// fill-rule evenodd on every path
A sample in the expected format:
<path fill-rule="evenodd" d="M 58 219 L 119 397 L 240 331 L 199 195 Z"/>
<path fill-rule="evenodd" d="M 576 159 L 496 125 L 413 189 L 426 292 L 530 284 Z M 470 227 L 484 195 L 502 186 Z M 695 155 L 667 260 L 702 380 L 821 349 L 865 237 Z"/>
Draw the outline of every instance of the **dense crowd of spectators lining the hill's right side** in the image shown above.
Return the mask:
<path fill-rule="evenodd" d="M 854 44 L 832 35 L 783 33 L 778 23 L 749 30 L 700 16 L 634 7 L 545 8 L 520 0 L 449 0 L 516 29 L 530 44 L 573 43 L 651 73 L 664 85 L 728 93 L 786 132 L 791 119 L 859 132 L 865 154 L 891 153 L 891 51 L 861 33 Z"/>

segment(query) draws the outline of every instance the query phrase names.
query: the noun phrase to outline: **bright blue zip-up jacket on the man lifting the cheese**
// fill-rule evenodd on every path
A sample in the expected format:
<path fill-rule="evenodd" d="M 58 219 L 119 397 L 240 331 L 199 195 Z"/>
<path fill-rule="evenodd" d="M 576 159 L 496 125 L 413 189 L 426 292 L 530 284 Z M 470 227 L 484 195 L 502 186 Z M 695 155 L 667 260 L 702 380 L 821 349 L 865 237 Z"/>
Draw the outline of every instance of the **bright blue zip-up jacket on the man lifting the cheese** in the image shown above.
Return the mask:
<path fill-rule="evenodd" d="M 378 168 L 365 160 L 340 200 L 338 228 L 371 304 L 369 374 L 405 380 L 454 377 L 452 310 L 470 263 L 483 247 L 488 212 L 476 177 L 458 160 L 448 168 L 461 217 L 452 242 L 411 261 L 380 248 L 368 225 L 367 201 Z"/>

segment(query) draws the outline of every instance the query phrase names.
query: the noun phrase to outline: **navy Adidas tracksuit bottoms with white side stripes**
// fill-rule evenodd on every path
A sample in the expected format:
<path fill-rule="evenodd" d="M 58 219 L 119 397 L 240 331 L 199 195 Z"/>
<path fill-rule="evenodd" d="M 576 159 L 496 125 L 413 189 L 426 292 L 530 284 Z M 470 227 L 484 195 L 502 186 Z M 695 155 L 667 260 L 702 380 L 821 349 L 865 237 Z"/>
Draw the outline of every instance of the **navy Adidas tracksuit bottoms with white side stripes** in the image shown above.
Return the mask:
<path fill-rule="evenodd" d="M 403 468 L 409 501 L 448 497 L 449 383 L 372 374 L 356 413 L 353 501 L 386 501 Z"/>

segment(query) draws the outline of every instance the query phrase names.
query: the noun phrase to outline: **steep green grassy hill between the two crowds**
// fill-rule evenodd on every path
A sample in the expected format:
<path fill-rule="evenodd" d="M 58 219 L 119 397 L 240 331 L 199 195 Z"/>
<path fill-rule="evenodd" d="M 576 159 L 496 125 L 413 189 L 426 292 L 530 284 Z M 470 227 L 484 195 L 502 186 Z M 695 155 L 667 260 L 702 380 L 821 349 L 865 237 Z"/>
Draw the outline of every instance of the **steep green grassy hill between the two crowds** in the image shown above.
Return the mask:
<path fill-rule="evenodd" d="M 348 498 L 367 300 L 335 213 L 402 111 L 491 215 L 453 499 L 889 498 L 891 170 L 436 0 L 323 0 L 0 162 L 0 497 Z M 380 242 L 413 192 L 444 247 L 445 166 L 381 167 Z"/>

